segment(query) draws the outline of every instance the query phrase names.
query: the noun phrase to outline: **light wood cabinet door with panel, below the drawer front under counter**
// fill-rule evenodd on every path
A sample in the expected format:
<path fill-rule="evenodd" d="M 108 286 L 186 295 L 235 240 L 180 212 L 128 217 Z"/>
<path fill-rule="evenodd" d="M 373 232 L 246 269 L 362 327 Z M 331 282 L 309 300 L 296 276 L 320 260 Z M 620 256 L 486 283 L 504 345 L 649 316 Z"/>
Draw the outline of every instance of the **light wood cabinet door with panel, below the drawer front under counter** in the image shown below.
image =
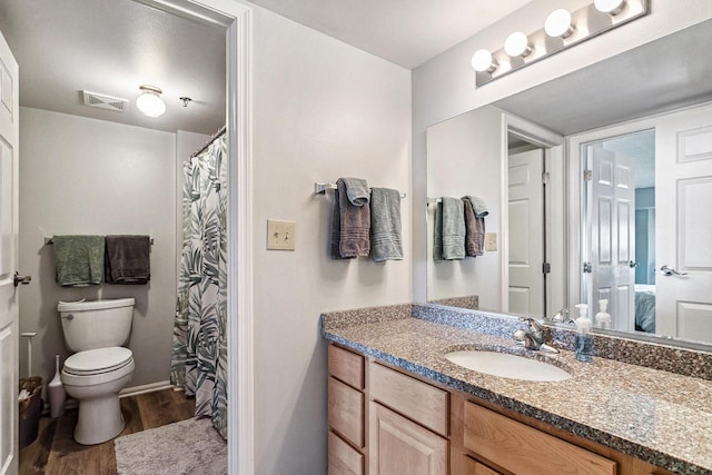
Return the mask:
<path fill-rule="evenodd" d="M 370 402 L 369 475 L 446 475 L 448 442 Z"/>

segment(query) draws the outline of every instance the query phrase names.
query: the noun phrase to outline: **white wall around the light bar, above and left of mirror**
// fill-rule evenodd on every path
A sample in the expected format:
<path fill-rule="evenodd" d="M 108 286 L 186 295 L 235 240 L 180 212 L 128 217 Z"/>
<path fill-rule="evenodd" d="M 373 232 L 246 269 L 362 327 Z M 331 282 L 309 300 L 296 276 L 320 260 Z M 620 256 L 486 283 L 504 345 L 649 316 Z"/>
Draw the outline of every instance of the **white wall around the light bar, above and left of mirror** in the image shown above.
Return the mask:
<path fill-rule="evenodd" d="M 568 0 L 566 7 L 574 10 L 590 3 L 587 0 Z M 556 8 L 561 8 L 558 0 L 534 0 L 413 71 L 415 301 L 425 301 L 426 298 L 427 230 L 425 215 L 419 210 L 426 206 L 425 130 L 428 126 L 712 18 L 712 2 L 709 0 L 651 0 L 649 16 L 476 89 L 475 75 L 469 66 L 473 52 L 479 48 L 500 49 L 512 31 L 541 29 L 546 16 Z"/>

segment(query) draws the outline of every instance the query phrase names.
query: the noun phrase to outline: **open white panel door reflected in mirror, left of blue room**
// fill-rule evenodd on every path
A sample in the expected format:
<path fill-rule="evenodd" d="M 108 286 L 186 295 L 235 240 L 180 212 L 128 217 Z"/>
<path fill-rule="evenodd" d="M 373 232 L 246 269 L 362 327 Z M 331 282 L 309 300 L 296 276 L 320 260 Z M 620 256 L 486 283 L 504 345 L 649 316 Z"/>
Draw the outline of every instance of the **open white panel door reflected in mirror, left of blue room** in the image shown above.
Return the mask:
<path fill-rule="evenodd" d="M 612 328 L 635 329 L 635 181 L 633 159 L 603 148 L 586 146 L 591 177 L 587 200 L 591 279 L 589 316 L 599 300 L 609 300 Z"/>

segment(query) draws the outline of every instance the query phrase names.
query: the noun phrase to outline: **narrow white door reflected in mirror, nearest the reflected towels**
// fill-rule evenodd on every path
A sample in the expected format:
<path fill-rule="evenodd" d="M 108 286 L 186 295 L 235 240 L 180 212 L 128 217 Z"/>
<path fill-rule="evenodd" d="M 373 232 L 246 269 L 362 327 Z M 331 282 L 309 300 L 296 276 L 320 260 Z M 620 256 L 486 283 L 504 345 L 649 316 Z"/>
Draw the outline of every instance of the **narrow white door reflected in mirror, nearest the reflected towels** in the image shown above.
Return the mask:
<path fill-rule="evenodd" d="M 544 150 L 510 156 L 510 311 L 544 316 Z"/>

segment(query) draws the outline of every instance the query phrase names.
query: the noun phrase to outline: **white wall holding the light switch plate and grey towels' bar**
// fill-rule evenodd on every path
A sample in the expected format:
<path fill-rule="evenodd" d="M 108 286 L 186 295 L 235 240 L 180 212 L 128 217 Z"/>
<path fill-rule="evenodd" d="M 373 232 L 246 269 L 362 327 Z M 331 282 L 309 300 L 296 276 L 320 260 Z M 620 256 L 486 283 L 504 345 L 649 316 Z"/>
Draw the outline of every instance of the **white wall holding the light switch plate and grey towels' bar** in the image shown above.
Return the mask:
<path fill-rule="evenodd" d="M 254 13 L 255 473 L 325 474 L 319 314 L 411 300 L 411 71 Z M 329 258 L 314 182 L 348 176 L 408 194 L 405 260 Z M 265 250 L 268 218 L 296 221 L 295 251 Z"/>

